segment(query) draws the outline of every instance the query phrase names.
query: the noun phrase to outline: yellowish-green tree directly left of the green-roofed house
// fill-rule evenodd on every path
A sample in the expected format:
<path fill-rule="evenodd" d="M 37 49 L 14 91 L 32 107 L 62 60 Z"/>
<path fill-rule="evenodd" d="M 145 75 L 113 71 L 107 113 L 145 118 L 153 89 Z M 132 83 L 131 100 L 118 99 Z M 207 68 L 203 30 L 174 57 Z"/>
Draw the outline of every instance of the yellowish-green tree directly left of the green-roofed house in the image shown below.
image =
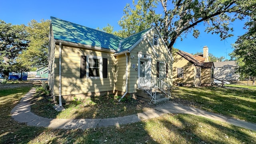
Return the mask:
<path fill-rule="evenodd" d="M 19 55 L 20 61 L 31 68 L 48 66 L 50 20 L 31 20 L 26 27 L 28 48 Z"/>

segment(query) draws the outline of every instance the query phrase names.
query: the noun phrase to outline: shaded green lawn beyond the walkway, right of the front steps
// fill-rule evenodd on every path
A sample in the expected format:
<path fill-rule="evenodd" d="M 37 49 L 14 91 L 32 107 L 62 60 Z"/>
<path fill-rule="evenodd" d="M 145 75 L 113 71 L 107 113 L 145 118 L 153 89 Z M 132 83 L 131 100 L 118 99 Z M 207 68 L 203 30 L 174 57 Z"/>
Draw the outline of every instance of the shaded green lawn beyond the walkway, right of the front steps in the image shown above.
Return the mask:
<path fill-rule="evenodd" d="M 172 96 L 176 102 L 256 123 L 256 90 L 175 87 Z"/>

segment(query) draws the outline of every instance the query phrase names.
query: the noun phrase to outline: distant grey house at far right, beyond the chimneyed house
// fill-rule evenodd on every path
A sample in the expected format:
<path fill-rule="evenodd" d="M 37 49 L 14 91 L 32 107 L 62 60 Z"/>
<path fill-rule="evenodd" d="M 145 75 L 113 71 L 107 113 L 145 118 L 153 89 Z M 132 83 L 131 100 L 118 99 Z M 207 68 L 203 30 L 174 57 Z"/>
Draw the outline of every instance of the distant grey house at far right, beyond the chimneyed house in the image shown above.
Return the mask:
<path fill-rule="evenodd" d="M 214 78 L 225 81 L 238 81 L 239 74 L 236 73 L 238 65 L 236 61 L 214 62 Z"/>

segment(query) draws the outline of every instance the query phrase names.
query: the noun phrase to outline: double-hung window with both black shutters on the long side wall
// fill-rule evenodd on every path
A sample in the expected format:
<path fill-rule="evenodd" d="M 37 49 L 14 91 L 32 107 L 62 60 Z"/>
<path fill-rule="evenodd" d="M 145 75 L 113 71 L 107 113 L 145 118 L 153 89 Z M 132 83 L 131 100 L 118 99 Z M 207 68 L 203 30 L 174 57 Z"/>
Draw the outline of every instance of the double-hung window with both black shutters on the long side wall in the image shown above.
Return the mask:
<path fill-rule="evenodd" d="M 107 58 L 81 56 L 80 62 L 80 78 L 107 78 Z"/>

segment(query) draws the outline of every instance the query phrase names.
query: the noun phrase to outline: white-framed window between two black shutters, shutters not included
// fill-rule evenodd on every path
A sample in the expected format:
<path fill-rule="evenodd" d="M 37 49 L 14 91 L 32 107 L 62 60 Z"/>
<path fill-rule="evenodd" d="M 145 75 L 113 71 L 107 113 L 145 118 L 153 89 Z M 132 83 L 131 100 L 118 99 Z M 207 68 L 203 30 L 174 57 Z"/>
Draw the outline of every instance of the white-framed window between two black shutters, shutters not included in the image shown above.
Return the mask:
<path fill-rule="evenodd" d="M 88 56 L 86 60 L 86 77 L 102 78 L 102 57 Z"/>

